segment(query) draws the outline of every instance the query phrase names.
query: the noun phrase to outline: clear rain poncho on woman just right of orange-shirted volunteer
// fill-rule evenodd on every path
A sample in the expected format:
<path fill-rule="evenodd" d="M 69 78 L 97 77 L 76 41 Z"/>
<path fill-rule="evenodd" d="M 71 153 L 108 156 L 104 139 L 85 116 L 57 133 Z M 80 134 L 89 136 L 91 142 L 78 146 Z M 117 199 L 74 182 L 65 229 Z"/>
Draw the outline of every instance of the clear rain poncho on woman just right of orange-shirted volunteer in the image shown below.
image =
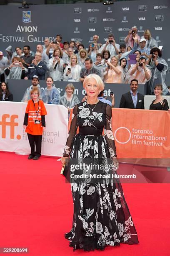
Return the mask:
<path fill-rule="evenodd" d="M 60 93 L 55 87 L 55 85 L 53 85 L 50 90 L 48 89 L 48 87 L 46 87 L 42 92 L 42 101 L 44 103 L 58 104 L 60 98 Z"/>

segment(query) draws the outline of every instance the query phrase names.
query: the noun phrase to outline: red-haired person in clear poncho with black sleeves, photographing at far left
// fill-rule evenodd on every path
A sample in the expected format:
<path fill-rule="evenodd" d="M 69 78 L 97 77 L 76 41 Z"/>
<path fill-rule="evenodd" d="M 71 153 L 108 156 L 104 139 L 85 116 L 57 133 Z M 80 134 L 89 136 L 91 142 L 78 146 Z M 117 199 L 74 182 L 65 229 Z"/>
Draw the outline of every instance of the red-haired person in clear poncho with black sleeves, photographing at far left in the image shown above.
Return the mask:
<path fill-rule="evenodd" d="M 24 79 L 27 72 L 28 70 L 18 57 L 13 57 L 12 64 L 4 70 L 6 79 Z"/>

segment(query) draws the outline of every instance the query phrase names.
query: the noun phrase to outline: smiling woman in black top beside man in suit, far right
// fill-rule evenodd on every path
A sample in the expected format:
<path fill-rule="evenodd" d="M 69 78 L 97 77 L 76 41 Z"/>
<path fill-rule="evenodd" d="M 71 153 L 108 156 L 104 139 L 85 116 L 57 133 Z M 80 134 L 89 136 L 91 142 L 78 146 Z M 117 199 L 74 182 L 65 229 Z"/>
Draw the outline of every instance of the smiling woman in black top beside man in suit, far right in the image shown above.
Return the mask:
<path fill-rule="evenodd" d="M 163 86 L 162 84 L 157 84 L 154 88 L 154 94 L 156 99 L 150 104 L 149 109 L 151 110 L 169 110 L 168 101 L 162 97 Z"/>

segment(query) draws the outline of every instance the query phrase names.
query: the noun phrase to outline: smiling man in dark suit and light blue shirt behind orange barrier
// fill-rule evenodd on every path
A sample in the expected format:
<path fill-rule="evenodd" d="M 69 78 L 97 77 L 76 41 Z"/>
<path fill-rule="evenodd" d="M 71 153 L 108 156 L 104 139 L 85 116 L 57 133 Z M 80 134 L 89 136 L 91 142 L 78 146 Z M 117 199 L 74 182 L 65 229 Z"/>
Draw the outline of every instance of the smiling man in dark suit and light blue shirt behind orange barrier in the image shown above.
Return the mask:
<path fill-rule="evenodd" d="M 137 91 L 138 87 L 138 80 L 131 80 L 130 92 L 122 95 L 119 108 L 145 109 L 144 96 Z"/>

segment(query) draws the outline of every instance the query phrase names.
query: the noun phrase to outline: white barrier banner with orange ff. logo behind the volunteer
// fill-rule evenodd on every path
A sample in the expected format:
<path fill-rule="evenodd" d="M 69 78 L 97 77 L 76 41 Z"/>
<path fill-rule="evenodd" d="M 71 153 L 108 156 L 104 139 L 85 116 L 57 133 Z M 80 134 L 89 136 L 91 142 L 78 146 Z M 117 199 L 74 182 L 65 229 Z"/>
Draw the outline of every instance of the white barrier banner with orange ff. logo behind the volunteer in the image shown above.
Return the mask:
<path fill-rule="evenodd" d="M 0 151 L 30 154 L 23 129 L 27 103 L 0 101 Z M 47 105 L 46 129 L 42 136 L 42 155 L 62 156 L 67 140 L 68 111 L 61 105 Z"/>

